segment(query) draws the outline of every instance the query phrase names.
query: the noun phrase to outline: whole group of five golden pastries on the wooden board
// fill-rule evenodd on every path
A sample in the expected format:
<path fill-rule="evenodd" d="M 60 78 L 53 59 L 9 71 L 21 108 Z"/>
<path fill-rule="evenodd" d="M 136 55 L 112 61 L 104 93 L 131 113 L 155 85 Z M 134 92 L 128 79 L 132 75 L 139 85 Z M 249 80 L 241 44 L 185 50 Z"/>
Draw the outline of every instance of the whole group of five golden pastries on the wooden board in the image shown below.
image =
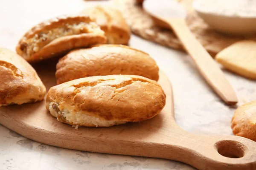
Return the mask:
<path fill-rule="evenodd" d="M 0 106 L 43 100 L 46 88 L 29 63 L 59 57 L 58 85 L 46 96 L 58 121 L 109 127 L 152 118 L 166 103 L 159 68 L 126 46 L 130 34 L 120 11 L 106 6 L 39 23 L 20 39 L 17 54 L 0 49 Z"/>

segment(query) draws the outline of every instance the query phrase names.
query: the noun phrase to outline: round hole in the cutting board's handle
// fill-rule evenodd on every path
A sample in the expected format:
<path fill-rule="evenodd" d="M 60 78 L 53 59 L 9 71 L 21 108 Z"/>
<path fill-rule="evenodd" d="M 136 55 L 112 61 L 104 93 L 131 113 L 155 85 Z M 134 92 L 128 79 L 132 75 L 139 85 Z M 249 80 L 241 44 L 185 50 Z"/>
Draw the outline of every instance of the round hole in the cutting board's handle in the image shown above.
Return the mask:
<path fill-rule="evenodd" d="M 229 158 L 241 158 L 247 150 L 244 144 L 233 140 L 218 141 L 215 143 L 215 148 L 219 154 Z"/>

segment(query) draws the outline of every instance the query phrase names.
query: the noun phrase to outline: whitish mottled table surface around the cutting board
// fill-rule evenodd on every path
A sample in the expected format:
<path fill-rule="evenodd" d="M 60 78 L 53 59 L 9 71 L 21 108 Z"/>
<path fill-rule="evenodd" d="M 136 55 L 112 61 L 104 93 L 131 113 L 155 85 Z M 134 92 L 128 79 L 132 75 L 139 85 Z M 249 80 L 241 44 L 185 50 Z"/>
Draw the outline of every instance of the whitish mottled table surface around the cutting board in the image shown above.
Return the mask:
<path fill-rule="evenodd" d="M 100 2 L 102 3 L 102 2 Z M 104 3 L 104 2 L 103 2 Z M 15 49 L 19 38 L 36 23 L 75 13 L 83 0 L 0 0 L 0 47 Z M 225 105 L 201 78 L 186 54 L 132 36 L 130 46 L 149 53 L 173 84 L 175 118 L 185 130 L 206 135 L 231 135 L 236 107 Z M 47 68 L 46 68 L 47 69 Z M 238 105 L 256 99 L 256 82 L 224 71 L 239 96 Z M 132 148 L 131 148 L 132 149 Z M 193 170 L 165 159 L 89 153 L 31 141 L 0 125 L 1 170 Z"/>

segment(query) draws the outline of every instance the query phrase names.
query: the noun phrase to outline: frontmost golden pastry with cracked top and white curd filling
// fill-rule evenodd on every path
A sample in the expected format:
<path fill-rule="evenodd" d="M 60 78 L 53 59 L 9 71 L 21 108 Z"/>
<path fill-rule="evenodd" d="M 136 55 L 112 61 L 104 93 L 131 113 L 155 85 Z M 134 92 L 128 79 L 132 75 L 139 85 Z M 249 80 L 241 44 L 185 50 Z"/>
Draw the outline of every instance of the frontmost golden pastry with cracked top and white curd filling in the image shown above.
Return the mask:
<path fill-rule="evenodd" d="M 160 113 L 166 95 L 156 81 L 135 75 L 93 76 L 49 89 L 46 108 L 70 125 L 109 127 Z"/>

